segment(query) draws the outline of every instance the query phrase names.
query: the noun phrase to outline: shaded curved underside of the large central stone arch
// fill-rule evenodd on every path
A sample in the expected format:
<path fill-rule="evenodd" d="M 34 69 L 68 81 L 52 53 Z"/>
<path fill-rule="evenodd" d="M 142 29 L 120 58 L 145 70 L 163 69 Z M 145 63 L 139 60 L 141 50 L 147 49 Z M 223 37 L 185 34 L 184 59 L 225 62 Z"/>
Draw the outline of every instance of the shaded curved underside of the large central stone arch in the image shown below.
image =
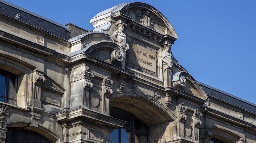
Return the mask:
<path fill-rule="evenodd" d="M 174 121 L 175 115 L 167 106 L 153 99 L 142 98 L 133 92 L 116 92 L 110 97 L 110 107 L 134 114 L 148 126 Z"/>

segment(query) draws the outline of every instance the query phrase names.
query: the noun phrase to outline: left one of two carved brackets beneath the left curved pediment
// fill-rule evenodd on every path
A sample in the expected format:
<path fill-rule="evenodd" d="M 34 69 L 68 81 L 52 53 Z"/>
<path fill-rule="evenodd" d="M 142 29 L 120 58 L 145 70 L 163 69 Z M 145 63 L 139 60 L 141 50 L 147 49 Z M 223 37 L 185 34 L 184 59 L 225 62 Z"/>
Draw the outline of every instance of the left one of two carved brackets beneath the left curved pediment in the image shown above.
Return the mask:
<path fill-rule="evenodd" d="M 91 69 L 89 67 L 84 71 L 84 82 L 83 82 L 83 106 L 89 108 L 89 100 L 90 100 L 90 89 L 92 88 L 92 78 L 94 75 L 91 73 Z"/>

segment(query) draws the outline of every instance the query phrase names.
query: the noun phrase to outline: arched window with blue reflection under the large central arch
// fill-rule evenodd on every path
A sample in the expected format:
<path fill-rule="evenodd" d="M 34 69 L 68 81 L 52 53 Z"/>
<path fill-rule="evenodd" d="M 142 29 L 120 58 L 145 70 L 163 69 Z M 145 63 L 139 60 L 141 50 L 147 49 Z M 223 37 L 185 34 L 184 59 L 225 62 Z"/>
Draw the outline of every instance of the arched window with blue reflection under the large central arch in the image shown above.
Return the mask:
<path fill-rule="evenodd" d="M 110 116 L 126 121 L 123 128 L 117 128 L 110 133 L 109 143 L 148 143 L 148 127 L 133 114 L 110 108 Z"/>

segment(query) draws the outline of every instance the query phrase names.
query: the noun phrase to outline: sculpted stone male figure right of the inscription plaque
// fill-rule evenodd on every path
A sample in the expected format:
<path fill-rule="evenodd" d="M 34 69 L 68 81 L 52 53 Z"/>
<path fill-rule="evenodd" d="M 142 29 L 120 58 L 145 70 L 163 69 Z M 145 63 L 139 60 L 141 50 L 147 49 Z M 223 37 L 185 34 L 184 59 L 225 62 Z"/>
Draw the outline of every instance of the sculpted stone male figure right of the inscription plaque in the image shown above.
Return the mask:
<path fill-rule="evenodd" d="M 172 43 L 165 42 L 164 43 L 164 50 L 162 51 L 162 60 L 163 60 L 163 71 L 167 70 L 168 68 L 172 67 L 172 55 L 170 54 L 170 48 Z"/>

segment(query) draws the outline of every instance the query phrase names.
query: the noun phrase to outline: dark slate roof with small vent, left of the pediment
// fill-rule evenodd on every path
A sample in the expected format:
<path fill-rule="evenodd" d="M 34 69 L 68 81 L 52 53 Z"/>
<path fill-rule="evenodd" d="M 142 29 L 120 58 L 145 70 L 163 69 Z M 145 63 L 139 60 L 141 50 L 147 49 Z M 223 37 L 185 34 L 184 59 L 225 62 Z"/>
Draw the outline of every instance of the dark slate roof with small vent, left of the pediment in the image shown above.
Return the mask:
<path fill-rule="evenodd" d="M 16 18 L 16 14 L 18 13 L 20 14 L 20 18 Z M 66 29 L 64 25 L 39 16 L 4 0 L 0 0 L 0 14 L 47 31 L 54 36 L 66 39 L 66 30 L 68 31 L 68 29 Z"/>

